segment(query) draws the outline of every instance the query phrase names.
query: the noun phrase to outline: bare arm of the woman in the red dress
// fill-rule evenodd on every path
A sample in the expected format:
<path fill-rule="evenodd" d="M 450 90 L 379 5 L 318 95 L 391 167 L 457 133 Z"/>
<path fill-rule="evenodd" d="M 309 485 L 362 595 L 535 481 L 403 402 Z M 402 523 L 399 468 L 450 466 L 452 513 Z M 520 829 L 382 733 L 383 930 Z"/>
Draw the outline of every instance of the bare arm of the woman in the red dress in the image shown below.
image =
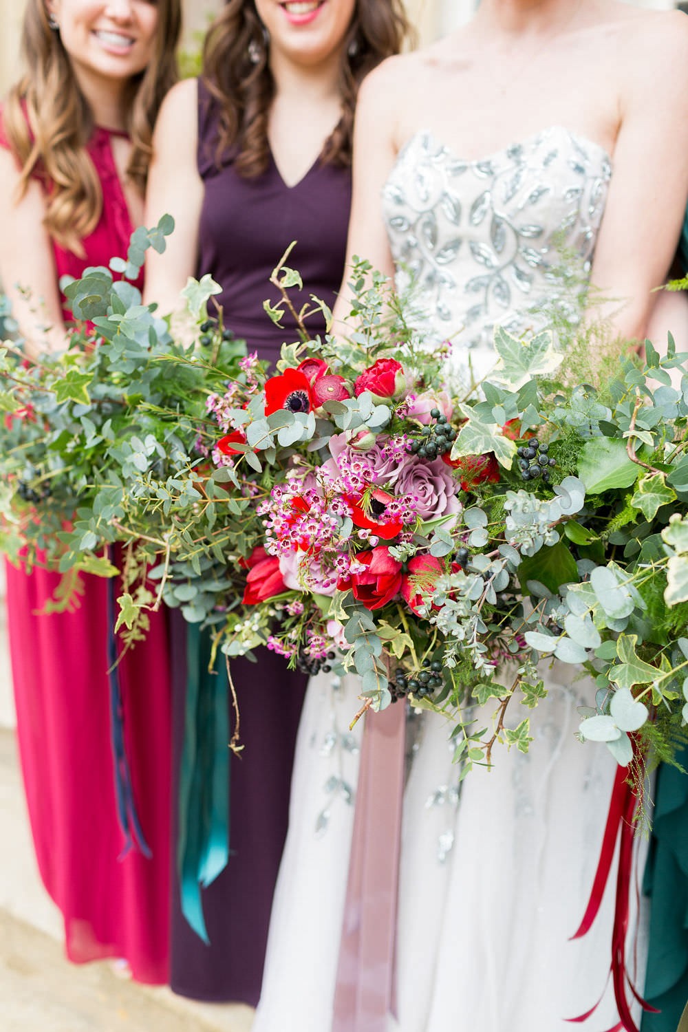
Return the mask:
<path fill-rule="evenodd" d="M 45 198 L 30 183 L 15 202 L 20 172 L 9 151 L 0 149 L 0 280 L 31 355 L 66 347 L 58 275 L 43 227 Z"/>

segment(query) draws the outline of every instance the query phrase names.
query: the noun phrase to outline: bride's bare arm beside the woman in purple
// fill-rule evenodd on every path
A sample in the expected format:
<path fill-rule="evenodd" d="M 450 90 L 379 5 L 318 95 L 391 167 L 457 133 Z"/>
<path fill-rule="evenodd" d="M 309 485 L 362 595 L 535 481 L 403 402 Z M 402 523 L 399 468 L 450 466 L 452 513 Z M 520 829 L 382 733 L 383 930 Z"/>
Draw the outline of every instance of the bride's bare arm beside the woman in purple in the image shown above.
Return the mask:
<path fill-rule="evenodd" d="M 385 62 L 361 87 L 354 129 L 354 184 L 347 264 L 334 321 L 349 315 L 348 281 L 354 255 L 367 259 L 381 272 L 394 276 L 394 262 L 383 221 L 381 193 L 396 158 L 394 120 L 390 98 L 395 96 L 394 62 Z"/>

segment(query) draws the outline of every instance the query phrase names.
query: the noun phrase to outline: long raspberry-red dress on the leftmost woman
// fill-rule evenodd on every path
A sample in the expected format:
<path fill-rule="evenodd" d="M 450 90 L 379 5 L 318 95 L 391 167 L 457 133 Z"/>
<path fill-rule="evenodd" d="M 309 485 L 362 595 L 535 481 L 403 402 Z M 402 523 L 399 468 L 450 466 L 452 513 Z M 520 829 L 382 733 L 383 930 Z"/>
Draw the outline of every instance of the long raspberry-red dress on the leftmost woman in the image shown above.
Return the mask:
<path fill-rule="evenodd" d="M 0 146 L 8 149 L 0 119 Z M 110 134 L 88 148 L 103 189 L 103 211 L 78 257 L 54 245 L 55 275 L 126 255 L 132 224 Z M 41 178 L 45 189 L 50 189 Z M 65 307 L 65 320 L 71 313 Z M 133 977 L 164 983 L 169 958 L 170 702 L 167 632 L 151 614 L 144 642 L 122 657 L 125 736 L 133 794 L 153 857 L 123 856 L 110 747 L 107 582 L 83 576 L 73 612 L 41 615 L 60 583 L 44 569 L 6 565 L 7 622 L 20 761 L 36 860 L 62 911 L 75 963 L 128 961 Z M 119 593 L 119 591 L 118 591 Z"/>

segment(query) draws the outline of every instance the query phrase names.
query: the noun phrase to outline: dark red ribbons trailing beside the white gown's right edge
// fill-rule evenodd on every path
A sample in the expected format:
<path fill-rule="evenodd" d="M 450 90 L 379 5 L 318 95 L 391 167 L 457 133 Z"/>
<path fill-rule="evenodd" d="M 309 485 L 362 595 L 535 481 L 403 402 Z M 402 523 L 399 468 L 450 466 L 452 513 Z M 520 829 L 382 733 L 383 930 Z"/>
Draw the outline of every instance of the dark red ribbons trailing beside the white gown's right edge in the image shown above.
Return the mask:
<path fill-rule="evenodd" d="M 586 907 L 583 921 L 571 936 L 579 939 L 586 934 L 599 912 L 599 907 L 604 895 L 604 889 L 610 878 L 614 852 L 617 839 L 619 839 L 619 869 L 617 873 L 616 903 L 614 908 L 614 929 L 612 932 L 612 964 L 610 974 L 614 985 L 614 999 L 616 1001 L 619 1019 L 617 1025 L 609 1032 L 638 1032 L 637 1026 L 630 1012 L 630 1005 L 626 995 L 626 987 L 630 990 L 644 1010 L 652 1013 L 658 1011 L 640 996 L 626 969 L 626 936 L 628 934 L 628 918 L 630 911 L 630 888 L 631 872 L 633 867 L 633 815 L 637 805 L 637 796 L 632 784 L 628 783 L 628 770 L 625 767 L 617 769 L 612 788 L 612 799 L 610 801 L 610 811 L 607 817 L 607 826 L 602 838 L 602 847 L 599 853 L 599 861 L 595 878 L 592 884 L 592 892 L 588 906 Z M 609 981 L 609 975 L 608 975 Z M 605 987 L 607 988 L 607 987 Z M 599 1000 L 590 1010 L 578 1018 L 567 1018 L 569 1022 L 585 1022 L 595 1012 L 599 1006 L 604 990 Z"/>

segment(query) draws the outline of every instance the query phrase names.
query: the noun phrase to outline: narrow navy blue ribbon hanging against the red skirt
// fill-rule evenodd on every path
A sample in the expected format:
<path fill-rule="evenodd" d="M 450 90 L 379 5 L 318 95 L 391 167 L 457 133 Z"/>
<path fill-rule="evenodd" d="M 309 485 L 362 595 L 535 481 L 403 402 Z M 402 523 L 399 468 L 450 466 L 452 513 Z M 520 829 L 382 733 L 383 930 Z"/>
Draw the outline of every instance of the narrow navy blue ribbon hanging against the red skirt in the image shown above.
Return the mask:
<path fill-rule="evenodd" d="M 109 550 L 110 562 L 113 560 L 112 549 Z M 114 761 L 114 791 L 117 797 L 118 820 L 122 834 L 125 838 L 125 846 L 122 858 L 127 856 L 130 849 L 138 848 L 146 858 L 153 856 L 143 836 L 136 804 L 134 802 L 134 791 L 131 781 L 131 770 L 127 759 L 127 748 L 124 735 L 124 699 L 122 696 L 122 685 L 120 683 L 119 656 L 117 647 L 117 635 L 114 633 L 114 578 L 107 581 L 107 678 L 109 682 L 110 696 L 110 742 L 112 746 L 112 759 Z"/>

